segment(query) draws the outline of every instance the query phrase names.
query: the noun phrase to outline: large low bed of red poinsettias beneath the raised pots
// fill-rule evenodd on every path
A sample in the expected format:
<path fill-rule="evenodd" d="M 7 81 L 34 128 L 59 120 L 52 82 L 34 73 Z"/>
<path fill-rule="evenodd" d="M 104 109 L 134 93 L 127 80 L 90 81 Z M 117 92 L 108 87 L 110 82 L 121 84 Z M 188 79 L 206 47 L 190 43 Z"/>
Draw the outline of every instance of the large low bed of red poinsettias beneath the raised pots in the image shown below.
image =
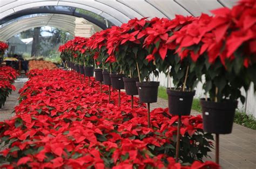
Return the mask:
<path fill-rule="evenodd" d="M 212 135 L 200 116 L 182 119 L 180 163 L 175 163 L 177 117 L 167 109 L 151 112 L 147 128 L 144 105 L 130 108 L 130 96 L 112 92 L 113 104 L 99 84 L 81 84 L 75 73 L 33 70 L 24 85 L 16 116 L 0 122 L 5 148 L 2 167 L 33 168 L 219 168 L 202 162 Z M 107 86 L 103 89 L 107 91 Z"/>

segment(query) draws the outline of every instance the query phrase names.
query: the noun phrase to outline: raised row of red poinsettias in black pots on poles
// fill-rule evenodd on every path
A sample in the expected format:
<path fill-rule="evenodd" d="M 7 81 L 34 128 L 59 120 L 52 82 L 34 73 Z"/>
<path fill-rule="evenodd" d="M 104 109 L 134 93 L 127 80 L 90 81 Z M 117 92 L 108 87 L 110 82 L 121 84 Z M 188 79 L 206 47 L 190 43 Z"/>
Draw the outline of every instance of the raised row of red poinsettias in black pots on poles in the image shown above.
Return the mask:
<path fill-rule="evenodd" d="M 194 89 L 205 76 L 205 130 L 226 134 L 232 129 L 237 99 L 245 102 L 241 87 L 247 90 L 256 80 L 254 10 L 255 2 L 241 1 L 232 9 L 212 11 L 214 16 L 131 19 L 90 38 L 76 37 L 60 51 L 71 62 L 84 60 L 86 66 L 102 67 L 96 70 L 96 79 L 107 69 L 104 84 L 112 82 L 113 89 L 125 86 L 127 94 L 139 93 L 143 103 L 157 102 L 159 82 L 150 82 L 150 75 L 164 72 L 174 84 L 167 89 L 169 111 L 179 116 L 190 114 Z"/>

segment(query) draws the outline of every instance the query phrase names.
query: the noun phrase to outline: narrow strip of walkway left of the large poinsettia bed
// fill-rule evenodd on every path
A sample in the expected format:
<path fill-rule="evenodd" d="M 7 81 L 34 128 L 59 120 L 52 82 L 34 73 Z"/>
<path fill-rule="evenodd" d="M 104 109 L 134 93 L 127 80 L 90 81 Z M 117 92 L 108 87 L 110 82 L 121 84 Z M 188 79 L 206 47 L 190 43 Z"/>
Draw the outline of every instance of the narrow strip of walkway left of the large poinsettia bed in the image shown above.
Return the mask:
<path fill-rule="evenodd" d="M 14 116 L 14 113 L 12 113 L 14 111 L 14 107 L 19 104 L 18 91 L 27 80 L 28 78 L 17 78 L 15 80 L 14 85 L 16 87 L 16 90 L 11 92 L 10 96 L 6 99 L 4 107 L 0 109 L 0 121 L 4 121 Z"/>

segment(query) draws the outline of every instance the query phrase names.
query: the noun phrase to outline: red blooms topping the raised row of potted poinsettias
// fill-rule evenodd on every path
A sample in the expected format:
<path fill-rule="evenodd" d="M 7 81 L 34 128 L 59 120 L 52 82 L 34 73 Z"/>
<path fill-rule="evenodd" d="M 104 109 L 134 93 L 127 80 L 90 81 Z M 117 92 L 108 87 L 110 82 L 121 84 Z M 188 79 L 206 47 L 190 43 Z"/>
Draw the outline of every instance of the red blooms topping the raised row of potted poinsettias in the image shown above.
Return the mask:
<path fill-rule="evenodd" d="M 256 53 L 256 2 L 241 1 L 232 9 L 213 10 L 213 17 L 202 14 L 200 17 L 177 15 L 170 20 L 166 18 L 131 19 L 122 26 L 112 26 L 107 30 L 95 33 L 86 42 L 79 44 L 77 37 L 68 42 L 64 48 L 72 50 L 101 50 L 105 46 L 109 55 L 107 62 L 116 62 L 116 51 L 121 45 L 127 48 L 143 44 L 151 49 L 147 60 L 155 60 L 156 54 L 165 59 L 167 51 L 173 50 L 180 58 L 190 56 L 194 62 L 199 56 L 207 53 L 208 61 L 213 63 L 218 57 L 223 65 L 225 60 L 233 60 L 234 52 L 242 48 L 244 66 L 248 67 Z M 79 45 L 76 45 L 79 44 Z M 84 48 L 87 46 L 87 49 Z M 172 56 L 170 56 L 172 57 Z"/>

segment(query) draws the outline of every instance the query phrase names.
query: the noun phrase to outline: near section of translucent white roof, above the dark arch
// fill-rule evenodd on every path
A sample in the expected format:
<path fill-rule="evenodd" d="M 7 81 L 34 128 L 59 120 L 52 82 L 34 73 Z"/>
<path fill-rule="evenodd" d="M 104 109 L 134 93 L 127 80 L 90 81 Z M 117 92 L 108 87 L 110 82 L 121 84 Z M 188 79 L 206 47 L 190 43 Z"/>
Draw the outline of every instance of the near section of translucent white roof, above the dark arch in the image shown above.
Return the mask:
<path fill-rule="evenodd" d="M 115 25 L 137 17 L 167 17 L 176 14 L 199 16 L 201 12 L 227 6 L 237 0 L 1 0 L 0 19 L 17 11 L 39 6 L 72 6 L 103 16 Z"/>

